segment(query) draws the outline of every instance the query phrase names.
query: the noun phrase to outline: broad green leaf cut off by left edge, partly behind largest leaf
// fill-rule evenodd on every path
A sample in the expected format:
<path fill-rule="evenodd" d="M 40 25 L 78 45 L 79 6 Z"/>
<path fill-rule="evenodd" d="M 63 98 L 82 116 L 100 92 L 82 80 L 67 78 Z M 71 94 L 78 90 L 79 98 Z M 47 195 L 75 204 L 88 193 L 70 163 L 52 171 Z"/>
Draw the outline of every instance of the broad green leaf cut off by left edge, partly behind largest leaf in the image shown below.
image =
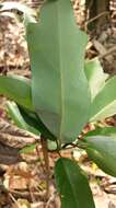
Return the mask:
<path fill-rule="evenodd" d="M 0 76 L 0 94 L 15 101 L 30 111 L 34 111 L 32 104 L 31 82 L 21 76 Z"/>

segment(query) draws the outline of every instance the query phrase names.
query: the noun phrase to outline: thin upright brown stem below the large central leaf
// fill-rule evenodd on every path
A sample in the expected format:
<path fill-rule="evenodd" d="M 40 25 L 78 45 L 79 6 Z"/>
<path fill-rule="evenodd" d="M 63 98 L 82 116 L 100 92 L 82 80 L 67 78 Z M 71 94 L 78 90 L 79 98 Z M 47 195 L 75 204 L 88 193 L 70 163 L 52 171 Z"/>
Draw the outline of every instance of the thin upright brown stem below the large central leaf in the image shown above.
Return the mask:
<path fill-rule="evenodd" d="M 49 198 L 50 167 L 49 167 L 49 158 L 48 158 L 48 149 L 47 149 L 47 139 L 45 139 L 43 136 L 40 136 L 40 142 L 42 142 L 42 150 L 43 150 L 45 167 L 46 167 L 46 199 L 48 199 Z"/>

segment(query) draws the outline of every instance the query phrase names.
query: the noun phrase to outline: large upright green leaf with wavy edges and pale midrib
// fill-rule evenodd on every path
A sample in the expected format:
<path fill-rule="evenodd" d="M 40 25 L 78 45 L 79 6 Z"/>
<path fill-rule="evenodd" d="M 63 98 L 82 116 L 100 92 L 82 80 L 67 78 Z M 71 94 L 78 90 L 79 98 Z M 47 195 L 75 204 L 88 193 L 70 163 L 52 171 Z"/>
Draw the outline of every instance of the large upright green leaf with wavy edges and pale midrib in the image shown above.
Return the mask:
<path fill-rule="evenodd" d="M 88 122 L 91 99 L 86 35 L 76 24 L 70 0 L 47 0 L 40 22 L 28 24 L 27 42 L 36 112 L 60 142 L 71 142 Z"/>

